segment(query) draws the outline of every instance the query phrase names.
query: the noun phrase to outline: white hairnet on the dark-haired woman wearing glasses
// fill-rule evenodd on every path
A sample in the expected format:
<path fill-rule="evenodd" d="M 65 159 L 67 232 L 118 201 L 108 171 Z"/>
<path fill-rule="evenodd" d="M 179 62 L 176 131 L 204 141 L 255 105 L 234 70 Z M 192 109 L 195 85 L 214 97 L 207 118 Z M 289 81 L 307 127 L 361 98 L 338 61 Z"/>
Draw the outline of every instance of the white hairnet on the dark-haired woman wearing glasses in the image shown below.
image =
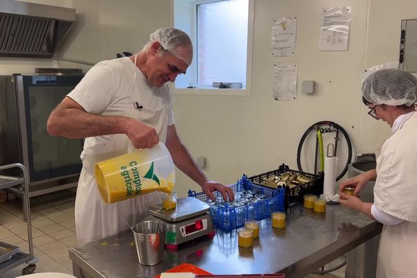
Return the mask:
<path fill-rule="evenodd" d="M 417 99 L 417 79 L 402 70 L 378 70 L 363 81 L 362 95 L 372 104 L 411 106 Z"/>

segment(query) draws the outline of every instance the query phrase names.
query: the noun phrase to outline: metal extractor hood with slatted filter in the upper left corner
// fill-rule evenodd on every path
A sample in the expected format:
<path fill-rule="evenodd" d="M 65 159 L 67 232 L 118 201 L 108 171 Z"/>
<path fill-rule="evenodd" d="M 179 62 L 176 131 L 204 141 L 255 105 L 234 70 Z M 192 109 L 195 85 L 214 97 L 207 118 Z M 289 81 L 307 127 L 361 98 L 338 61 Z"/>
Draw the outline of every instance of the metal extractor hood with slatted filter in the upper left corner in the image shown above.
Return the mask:
<path fill-rule="evenodd" d="M 73 8 L 0 0 L 0 56 L 51 58 L 75 19 Z"/>

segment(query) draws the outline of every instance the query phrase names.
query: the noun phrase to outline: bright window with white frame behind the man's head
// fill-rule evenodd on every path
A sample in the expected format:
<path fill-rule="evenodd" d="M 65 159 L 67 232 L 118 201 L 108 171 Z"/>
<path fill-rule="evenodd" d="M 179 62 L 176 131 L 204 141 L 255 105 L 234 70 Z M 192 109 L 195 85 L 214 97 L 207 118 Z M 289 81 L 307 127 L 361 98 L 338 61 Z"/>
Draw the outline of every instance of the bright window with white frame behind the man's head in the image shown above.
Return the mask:
<path fill-rule="evenodd" d="M 254 0 L 174 0 L 174 26 L 193 40 L 193 63 L 175 92 L 250 95 Z"/>

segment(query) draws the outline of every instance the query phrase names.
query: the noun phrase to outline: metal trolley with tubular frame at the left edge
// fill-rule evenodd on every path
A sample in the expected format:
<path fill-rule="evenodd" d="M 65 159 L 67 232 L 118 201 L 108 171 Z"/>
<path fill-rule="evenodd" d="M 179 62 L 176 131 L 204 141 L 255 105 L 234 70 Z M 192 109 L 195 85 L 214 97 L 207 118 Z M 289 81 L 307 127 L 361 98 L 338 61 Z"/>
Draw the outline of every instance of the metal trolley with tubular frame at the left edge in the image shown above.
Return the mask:
<path fill-rule="evenodd" d="M 31 226 L 31 206 L 29 203 L 29 183 L 28 183 L 28 175 L 27 170 L 24 165 L 20 163 L 13 163 L 9 165 L 0 166 L 0 170 L 6 170 L 13 167 L 19 167 L 22 170 L 23 177 L 10 177 L 10 176 L 3 176 L 0 175 L 0 190 L 5 188 L 10 188 L 12 186 L 22 185 L 24 186 L 23 191 L 23 208 L 24 208 L 24 216 L 26 217 L 26 222 L 28 224 L 28 243 L 29 243 L 29 254 L 24 252 L 19 252 L 17 249 L 14 254 L 9 253 L 5 254 L 6 259 L 2 263 L 0 263 L 0 275 L 8 270 L 11 270 L 22 263 L 26 263 L 27 266 L 23 268 L 22 275 L 27 275 L 35 271 L 36 265 L 38 263 L 38 259 L 35 258 L 33 255 L 33 239 L 32 239 L 32 226 Z M 7 249 L 7 248 L 6 248 Z M 10 258 L 9 258 L 10 257 Z"/>

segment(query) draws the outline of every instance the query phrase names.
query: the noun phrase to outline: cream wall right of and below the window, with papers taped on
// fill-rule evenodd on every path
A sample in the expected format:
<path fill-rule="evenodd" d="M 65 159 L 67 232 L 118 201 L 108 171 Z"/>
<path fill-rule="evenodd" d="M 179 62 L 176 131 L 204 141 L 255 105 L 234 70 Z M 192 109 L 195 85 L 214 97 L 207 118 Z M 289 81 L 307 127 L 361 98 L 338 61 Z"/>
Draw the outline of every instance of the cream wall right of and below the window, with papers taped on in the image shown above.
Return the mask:
<path fill-rule="evenodd" d="M 352 6 L 348 51 L 318 51 L 320 11 L 332 6 Z M 375 146 L 391 129 L 366 115 L 359 72 L 398 59 L 401 19 L 417 18 L 416 10 L 412 0 L 256 0 L 252 96 L 174 95 L 182 140 L 194 156 L 208 158 L 208 177 L 223 183 L 243 173 L 274 170 L 280 163 L 296 170 L 298 142 L 320 120 L 343 126 L 356 153 L 378 154 Z M 270 56 L 270 22 L 279 16 L 297 17 L 295 56 Z M 297 101 L 272 100 L 272 63 L 278 61 L 298 62 Z M 300 92 L 304 80 L 318 83 L 314 95 Z M 177 176 L 177 191 L 185 194 L 193 183 Z"/>

